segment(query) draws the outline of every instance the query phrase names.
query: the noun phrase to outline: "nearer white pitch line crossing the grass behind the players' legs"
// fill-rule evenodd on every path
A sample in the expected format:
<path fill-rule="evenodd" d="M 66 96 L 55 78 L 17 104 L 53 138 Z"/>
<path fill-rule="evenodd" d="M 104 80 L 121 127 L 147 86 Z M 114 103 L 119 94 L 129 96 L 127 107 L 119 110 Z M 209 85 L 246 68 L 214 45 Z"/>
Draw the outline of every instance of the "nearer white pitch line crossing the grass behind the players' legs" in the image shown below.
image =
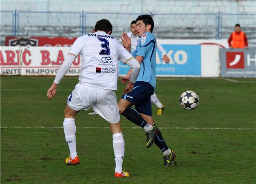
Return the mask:
<path fill-rule="evenodd" d="M 63 129 L 63 126 L 1 126 L 6 129 Z M 109 129 L 109 127 L 77 127 L 78 129 Z M 122 127 L 122 129 L 141 129 L 141 127 Z M 183 129 L 183 130 L 256 130 L 256 128 L 226 128 L 226 127 L 160 127 L 159 129 Z"/>

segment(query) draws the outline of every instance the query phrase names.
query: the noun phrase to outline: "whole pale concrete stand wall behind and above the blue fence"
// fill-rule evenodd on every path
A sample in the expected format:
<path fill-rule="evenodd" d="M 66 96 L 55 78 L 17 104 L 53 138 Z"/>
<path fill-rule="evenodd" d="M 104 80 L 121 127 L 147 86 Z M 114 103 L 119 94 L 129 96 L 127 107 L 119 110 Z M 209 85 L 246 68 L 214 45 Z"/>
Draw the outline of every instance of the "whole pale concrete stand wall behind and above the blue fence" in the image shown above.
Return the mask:
<path fill-rule="evenodd" d="M 122 32 L 128 31 L 130 22 L 136 19 L 138 14 L 151 12 L 154 14 L 154 34 L 157 38 L 215 39 L 218 26 L 215 14 L 256 14 L 255 0 L 1 0 L 0 3 L 1 11 L 78 13 L 19 12 L 17 21 L 19 36 L 80 36 L 82 19 L 79 13 L 84 11 L 86 13 L 83 22 L 84 32 L 91 32 L 97 20 L 107 18 L 113 24 L 113 36 L 120 37 Z M 90 12 L 130 14 L 92 14 Z M 11 13 L 1 12 L 1 45 L 5 36 L 13 34 L 11 20 Z M 256 47 L 255 15 L 223 15 L 222 39 L 230 36 L 236 23 L 240 23 L 247 33 L 249 46 Z"/>

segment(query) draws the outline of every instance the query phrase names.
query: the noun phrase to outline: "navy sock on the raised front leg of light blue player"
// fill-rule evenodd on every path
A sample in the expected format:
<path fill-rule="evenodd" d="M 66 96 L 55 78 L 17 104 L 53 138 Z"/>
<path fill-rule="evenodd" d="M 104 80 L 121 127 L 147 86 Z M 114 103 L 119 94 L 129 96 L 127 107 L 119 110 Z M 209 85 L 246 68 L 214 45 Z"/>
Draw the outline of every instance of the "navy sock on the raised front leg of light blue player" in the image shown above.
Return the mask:
<path fill-rule="evenodd" d="M 147 125 L 147 122 L 141 117 L 141 115 L 139 115 L 139 112 L 137 112 L 134 108 L 126 108 L 122 115 L 126 117 L 126 119 L 130 120 L 132 123 L 135 123 L 142 128 Z"/>

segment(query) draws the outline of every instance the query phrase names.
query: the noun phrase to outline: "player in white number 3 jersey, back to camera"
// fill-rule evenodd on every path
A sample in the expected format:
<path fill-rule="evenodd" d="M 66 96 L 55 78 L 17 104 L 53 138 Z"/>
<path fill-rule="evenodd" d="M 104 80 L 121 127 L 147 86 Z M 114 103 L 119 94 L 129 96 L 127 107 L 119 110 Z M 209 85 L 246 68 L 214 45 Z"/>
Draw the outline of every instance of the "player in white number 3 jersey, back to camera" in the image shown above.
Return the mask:
<path fill-rule="evenodd" d="M 76 152 L 76 126 L 75 115 L 80 110 L 92 108 L 102 118 L 109 122 L 113 133 L 113 149 L 115 155 L 115 177 L 129 177 L 128 172 L 122 170 L 124 157 L 124 138 L 120 127 L 120 115 L 117 105 L 118 64 L 121 61 L 132 68 L 132 76 L 124 88 L 124 93 L 132 91 L 133 85 L 139 75 L 138 61 L 115 39 L 110 36 L 112 25 L 102 19 L 95 25 L 93 33 L 80 36 L 72 45 L 67 58 L 61 65 L 52 86 L 47 91 L 47 97 L 53 98 L 60 80 L 68 72 L 74 59 L 82 55 L 82 67 L 79 83 L 76 84 L 67 100 L 64 110 L 64 134 L 70 156 L 65 159 L 67 165 L 79 164 Z"/>

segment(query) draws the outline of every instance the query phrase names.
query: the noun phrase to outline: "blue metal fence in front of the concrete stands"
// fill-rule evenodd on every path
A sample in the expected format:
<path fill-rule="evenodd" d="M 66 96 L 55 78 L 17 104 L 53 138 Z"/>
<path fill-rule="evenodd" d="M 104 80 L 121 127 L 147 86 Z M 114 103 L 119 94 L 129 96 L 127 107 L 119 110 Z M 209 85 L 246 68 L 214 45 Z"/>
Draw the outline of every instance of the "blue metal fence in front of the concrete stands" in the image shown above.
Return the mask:
<path fill-rule="evenodd" d="M 1 45 L 5 36 L 78 37 L 91 32 L 102 18 L 113 24 L 113 36 L 129 31 L 129 24 L 141 13 L 0 11 Z M 227 39 L 236 23 L 256 46 L 256 14 L 160 14 L 154 18 L 159 39 Z"/>

